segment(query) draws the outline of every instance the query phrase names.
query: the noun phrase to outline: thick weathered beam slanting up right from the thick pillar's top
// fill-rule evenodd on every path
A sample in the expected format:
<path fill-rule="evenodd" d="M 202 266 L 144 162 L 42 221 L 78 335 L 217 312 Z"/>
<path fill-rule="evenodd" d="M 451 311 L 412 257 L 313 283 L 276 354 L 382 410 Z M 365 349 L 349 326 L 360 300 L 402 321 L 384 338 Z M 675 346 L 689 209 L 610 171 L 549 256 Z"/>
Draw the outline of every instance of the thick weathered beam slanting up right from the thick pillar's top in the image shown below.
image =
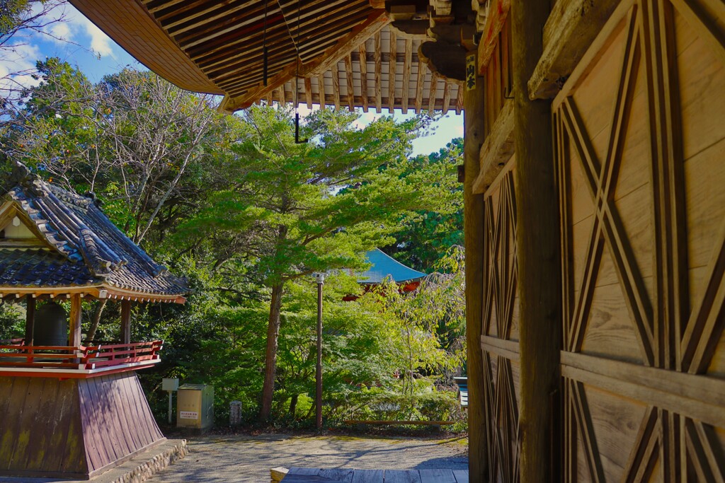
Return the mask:
<path fill-rule="evenodd" d="M 566 0 L 554 4 L 544 25 L 544 52 L 529 79 L 531 98 L 552 98 L 589 49 L 616 1 Z"/>

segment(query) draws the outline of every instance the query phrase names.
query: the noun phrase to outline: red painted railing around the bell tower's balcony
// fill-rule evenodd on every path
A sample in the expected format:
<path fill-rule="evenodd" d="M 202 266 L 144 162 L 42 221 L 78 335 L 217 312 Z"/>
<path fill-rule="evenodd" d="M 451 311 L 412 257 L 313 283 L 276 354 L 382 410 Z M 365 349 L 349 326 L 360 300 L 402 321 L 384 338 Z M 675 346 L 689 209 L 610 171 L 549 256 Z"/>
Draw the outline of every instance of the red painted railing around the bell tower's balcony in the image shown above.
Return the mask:
<path fill-rule="evenodd" d="M 24 345 L 22 339 L 1 340 L 0 369 L 100 369 L 134 364 L 154 364 L 159 360 L 162 340 L 129 344 Z M 141 364 L 138 364 L 141 363 Z"/>

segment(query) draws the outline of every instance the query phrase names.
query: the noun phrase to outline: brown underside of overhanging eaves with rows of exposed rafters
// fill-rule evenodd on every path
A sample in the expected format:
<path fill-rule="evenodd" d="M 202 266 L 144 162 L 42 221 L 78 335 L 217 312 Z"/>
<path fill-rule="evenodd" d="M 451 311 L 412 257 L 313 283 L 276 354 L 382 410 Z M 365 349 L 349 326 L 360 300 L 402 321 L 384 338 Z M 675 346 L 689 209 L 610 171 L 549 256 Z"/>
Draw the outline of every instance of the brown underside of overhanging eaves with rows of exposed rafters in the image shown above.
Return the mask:
<path fill-rule="evenodd" d="M 228 110 L 262 99 L 462 108 L 458 85 L 418 61 L 421 40 L 396 35 L 369 0 L 70 2 L 146 67 L 181 88 L 225 95 Z"/>

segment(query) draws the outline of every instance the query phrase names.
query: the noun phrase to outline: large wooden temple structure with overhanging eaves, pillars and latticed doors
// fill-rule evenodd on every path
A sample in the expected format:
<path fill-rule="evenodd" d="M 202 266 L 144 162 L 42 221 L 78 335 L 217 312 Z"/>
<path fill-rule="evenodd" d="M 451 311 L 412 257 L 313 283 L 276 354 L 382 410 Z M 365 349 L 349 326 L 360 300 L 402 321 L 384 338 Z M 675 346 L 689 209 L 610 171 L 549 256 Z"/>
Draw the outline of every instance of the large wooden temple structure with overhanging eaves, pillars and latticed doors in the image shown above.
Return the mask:
<path fill-rule="evenodd" d="M 465 110 L 471 481 L 724 481 L 723 1 L 72 3 L 228 111 Z"/>

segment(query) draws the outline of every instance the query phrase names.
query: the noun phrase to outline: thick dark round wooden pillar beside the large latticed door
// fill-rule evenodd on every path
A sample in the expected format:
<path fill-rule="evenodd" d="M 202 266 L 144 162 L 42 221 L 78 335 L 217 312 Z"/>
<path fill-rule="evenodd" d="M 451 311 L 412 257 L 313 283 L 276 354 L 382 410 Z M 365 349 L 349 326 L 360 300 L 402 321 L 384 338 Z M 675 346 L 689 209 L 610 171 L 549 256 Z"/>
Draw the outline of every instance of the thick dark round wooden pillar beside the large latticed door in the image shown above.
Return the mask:
<path fill-rule="evenodd" d="M 513 0 L 516 246 L 521 350 L 521 482 L 560 482 L 560 263 L 551 102 L 529 98 L 548 1 Z"/>

